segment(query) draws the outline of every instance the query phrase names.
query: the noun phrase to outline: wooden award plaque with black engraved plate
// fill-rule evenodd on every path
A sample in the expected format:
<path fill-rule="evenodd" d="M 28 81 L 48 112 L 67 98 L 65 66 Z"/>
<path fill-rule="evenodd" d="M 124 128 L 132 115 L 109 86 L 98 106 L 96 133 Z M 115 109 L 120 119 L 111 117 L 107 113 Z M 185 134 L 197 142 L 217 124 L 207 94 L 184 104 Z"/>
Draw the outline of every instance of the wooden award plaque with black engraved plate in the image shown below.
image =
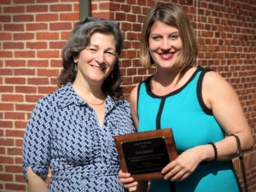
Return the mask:
<path fill-rule="evenodd" d="M 120 166 L 136 181 L 163 178 L 161 170 L 177 158 L 172 129 L 115 136 Z"/>

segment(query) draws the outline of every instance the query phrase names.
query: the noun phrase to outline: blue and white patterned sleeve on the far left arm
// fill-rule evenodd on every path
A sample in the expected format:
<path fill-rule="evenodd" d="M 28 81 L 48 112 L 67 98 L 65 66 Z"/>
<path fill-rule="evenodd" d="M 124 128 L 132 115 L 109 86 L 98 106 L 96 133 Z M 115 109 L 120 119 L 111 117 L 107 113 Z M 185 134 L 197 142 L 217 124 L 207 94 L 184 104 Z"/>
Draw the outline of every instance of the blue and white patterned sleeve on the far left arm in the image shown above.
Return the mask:
<path fill-rule="evenodd" d="M 32 116 L 26 125 L 23 138 L 22 161 L 23 177 L 31 166 L 32 171 L 44 180 L 48 174 L 49 166 L 49 129 L 51 127 L 51 110 L 47 97 L 38 101 Z"/>

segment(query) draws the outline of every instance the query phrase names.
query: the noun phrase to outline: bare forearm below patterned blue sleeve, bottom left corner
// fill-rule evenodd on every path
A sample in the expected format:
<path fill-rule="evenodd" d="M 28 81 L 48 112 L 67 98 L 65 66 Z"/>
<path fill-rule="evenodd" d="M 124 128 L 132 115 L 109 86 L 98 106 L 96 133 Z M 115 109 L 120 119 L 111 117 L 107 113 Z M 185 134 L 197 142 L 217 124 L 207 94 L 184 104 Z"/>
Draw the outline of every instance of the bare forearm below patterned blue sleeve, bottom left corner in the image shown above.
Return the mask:
<path fill-rule="evenodd" d="M 49 192 L 44 179 L 34 173 L 30 166 L 27 169 L 26 177 L 29 192 Z"/>

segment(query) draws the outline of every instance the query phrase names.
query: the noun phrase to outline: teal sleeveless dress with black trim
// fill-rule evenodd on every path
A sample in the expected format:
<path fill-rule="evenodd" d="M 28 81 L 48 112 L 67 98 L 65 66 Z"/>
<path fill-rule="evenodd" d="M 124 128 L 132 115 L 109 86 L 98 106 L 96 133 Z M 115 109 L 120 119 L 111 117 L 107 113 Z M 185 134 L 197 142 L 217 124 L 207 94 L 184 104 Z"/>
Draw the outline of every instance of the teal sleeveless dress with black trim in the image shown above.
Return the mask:
<path fill-rule="evenodd" d="M 150 89 L 149 77 L 138 86 L 137 113 L 139 132 L 172 128 L 177 153 L 216 143 L 224 138 L 201 96 L 201 84 L 207 69 L 197 67 L 188 82 L 166 96 L 156 96 Z M 174 186 L 174 188 L 173 188 Z M 201 163 L 189 177 L 181 182 L 153 180 L 150 192 L 237 192 L 240 191 L 236 172 L 230 160 Z"/>

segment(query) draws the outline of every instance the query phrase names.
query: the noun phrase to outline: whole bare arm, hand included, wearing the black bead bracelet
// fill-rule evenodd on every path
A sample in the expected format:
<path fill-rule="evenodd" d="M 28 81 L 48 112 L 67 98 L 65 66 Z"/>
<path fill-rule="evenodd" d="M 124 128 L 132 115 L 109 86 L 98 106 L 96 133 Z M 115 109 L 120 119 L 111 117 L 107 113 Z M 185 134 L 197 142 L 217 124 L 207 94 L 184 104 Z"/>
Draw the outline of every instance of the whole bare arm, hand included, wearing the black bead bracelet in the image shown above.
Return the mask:
<path fill-rule="evenodd" d="M 236 91 L 218 73 L 208 72 L 202 82 L 202 97 L 207 108 L 212 109 L 214 117 L 227 135 L 236 134 L 241 140 L 241 149 L 247 150 L 253 146 L 253 135 L 247 124 Z M 236 155 L 235 137 L 225 137 L 215 143 L 218 160 L 230 160 Z M 195 171 L 203 160 L 213 160 L 212 145 L 206 144 L 189 148 L 180 154 L 176 160 L 169 163 L 163 170 L 165 178 L 183 180 Z"/>

